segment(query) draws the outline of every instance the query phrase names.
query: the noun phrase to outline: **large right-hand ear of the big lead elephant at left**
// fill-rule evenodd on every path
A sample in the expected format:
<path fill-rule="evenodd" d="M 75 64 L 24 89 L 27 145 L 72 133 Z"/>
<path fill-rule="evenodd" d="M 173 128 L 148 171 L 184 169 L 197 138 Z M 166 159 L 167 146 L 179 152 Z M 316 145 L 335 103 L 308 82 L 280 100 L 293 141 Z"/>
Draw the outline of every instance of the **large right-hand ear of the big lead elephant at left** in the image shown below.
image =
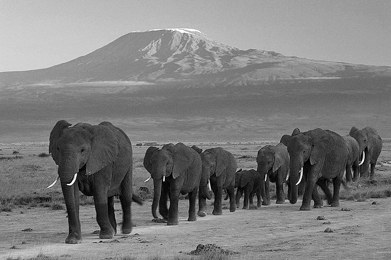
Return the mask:
<path fill-rule="evenodd" d="M 87 128 L 87 125 L 86 125 Z M 87 160 L 86 174 L 91 175 L 115 161 L 119 153 L 119 141 L 106 125 L 90 126 L 92 134 L 91 154 Z"/>

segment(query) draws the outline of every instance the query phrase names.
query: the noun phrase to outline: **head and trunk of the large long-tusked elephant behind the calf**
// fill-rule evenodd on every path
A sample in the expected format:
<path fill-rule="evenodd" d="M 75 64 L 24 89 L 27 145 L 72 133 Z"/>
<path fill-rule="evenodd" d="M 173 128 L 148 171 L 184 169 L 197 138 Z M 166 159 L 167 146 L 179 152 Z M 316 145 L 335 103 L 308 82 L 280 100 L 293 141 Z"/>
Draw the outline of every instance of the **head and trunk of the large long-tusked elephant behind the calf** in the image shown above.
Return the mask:
<path fill-rule="evenodd" d="M 320 128 L 304 133 L 293 133 L 288 139 L 287 150 L 290 156 L 290 185 L 291 185 L 291 203 L 297 202 L 298 184 L 303 178 L 304 163 L 314 165 L 316 163 L 326 163 L 326 157 L 333 153 L 335 139 L 328 130 Z M 329 162 L 327 162 L 329 163 Z"/>

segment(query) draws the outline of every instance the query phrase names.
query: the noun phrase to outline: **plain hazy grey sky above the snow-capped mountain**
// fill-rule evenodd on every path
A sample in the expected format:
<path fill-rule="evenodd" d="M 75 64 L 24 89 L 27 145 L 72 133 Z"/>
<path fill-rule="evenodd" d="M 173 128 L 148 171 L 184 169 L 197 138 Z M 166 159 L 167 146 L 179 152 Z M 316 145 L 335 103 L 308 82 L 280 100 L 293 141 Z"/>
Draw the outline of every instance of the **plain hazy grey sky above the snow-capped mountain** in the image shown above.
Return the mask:
<path fill-rule="evenodd" d="M 194 28 L 240 49 L 391 66 L 391 0 L 0 0 L 0 71 L 50 67 L 156 28 Z"/>

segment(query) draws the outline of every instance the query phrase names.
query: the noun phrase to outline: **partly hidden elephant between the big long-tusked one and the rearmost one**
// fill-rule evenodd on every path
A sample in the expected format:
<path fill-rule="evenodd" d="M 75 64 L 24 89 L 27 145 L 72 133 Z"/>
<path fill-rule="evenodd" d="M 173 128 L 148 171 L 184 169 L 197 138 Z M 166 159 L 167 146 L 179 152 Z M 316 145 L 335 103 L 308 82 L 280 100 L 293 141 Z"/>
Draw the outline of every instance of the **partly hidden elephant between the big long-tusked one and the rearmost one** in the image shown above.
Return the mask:
<path fill-rule="evenodd" d="M 351 182 L 351 169 L 353 168 L 353 179 L 358 179 L 358 166 L 361 165 L 364 161 L 359 162 L 359 146 L 357 140 L 352 138 L 349 135 L 343 137 L 348 145 L 348 161 L 346 163 L 345 176 L 346 181 Z"/>

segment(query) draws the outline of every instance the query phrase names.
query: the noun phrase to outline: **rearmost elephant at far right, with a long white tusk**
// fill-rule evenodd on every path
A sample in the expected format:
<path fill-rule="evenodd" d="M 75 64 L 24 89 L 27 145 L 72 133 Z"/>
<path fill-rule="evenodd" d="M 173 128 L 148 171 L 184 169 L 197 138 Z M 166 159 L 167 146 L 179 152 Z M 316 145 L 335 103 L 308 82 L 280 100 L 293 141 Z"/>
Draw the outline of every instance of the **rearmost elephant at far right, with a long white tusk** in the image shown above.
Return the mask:
<path fill-rule="evenodd" d="M 382 151 L 383 140 L 380 138 L 379 134 L 372 127 L 365 127 L 363 129 L 358 129 L 353 126 L 350 129 L 349 136 L 357 140 L 359 146 L 359 155 L 362 160 L 364 160 L 362 166 L 360 166 L 359 172 L 360 177 L 373 179 L 375 174 L 375 165 L 377 158 Z M 369 173 L 369 164 L 370 164 L 370 173 Z M 353 178 L 354 181 L 358 180 L 358 176 Z"/>

